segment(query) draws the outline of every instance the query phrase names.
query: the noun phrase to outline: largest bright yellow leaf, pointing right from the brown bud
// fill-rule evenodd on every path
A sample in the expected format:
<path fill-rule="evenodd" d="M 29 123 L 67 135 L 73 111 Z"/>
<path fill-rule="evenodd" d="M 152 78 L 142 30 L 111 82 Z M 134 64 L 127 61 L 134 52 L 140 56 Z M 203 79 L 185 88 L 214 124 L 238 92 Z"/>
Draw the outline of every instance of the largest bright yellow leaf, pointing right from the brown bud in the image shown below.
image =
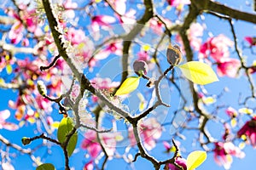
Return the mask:
<path fill-rule="evenodd" d="M 218 77 L 212 71 L 212 68 L 200 61 L 189 61 L 183 65 L 176 66 L 183 72 L 184 77 L 197 84 L 205 85 L 218 81 Z"/>

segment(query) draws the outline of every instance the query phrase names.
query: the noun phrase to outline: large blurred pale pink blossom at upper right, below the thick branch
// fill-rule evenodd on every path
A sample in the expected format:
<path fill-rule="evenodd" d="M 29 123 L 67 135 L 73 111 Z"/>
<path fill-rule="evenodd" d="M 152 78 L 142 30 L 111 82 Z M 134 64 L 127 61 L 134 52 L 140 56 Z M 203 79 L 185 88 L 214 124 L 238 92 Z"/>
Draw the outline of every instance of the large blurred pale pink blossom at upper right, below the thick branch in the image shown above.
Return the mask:
<path fill-rule="evenodd" d="M 230 57 L 229 48 L 232 47 L 234 42 L 230 38 L 220 34 L 218 37 L 211 37 L 207 42 L 203 43 L 200 48 L 199 58 L 207 58 L 209 54 L 212 59 L 217 62 L 222 62 L 224 59 Z"/>

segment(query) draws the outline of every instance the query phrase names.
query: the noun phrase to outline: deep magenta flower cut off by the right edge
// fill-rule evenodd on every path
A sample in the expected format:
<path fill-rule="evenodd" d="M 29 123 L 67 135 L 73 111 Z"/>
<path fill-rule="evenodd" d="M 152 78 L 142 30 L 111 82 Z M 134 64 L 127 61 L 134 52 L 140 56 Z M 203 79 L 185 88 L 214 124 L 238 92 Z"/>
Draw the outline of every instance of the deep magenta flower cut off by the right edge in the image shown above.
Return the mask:
<path fill-rule="evenodd" d="M 253 148 L 256 148 L 256 117 L 253 117 L 252 120 L 246 122 L 243 127 L 237 132 L 238 137 L 246 135 L 247 139 L 253 145 Z"/>

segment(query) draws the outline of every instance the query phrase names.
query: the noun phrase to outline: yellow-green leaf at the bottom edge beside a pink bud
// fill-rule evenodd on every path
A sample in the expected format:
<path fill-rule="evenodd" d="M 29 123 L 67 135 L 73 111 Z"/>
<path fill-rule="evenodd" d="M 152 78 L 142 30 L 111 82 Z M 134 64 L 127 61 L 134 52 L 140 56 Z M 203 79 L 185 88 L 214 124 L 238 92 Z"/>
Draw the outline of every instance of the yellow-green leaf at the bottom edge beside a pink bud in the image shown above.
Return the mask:
<path fill-rule="evenodd" d="M 195 150 L 191 152 L 187 158 L 187 167 L 188 170 L 193 170 L 196 167 L 199 167 L 202 162 L 207 159 L 207 152 L 201 150 Z"/>

